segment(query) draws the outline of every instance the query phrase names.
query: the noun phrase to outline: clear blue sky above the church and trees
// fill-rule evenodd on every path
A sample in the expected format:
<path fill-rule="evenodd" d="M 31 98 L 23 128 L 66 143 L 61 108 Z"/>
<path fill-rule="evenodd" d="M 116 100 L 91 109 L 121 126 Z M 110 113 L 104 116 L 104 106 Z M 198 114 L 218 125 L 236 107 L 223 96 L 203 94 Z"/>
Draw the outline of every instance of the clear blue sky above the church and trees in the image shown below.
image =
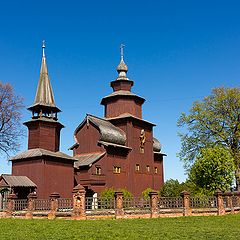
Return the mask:
<path fill-rule="evenodd" d="M 239 86 L 240 2 L 3 1 L 0 14 L 0 80 L 33 103 L 41 42 L 55 100 L 66 126 L 61 150 L 68 154 L 73 131 L 86 113 L 103 116 L 100 100 L 117 76 L 120 43 L 126 45 L 133 92 L 146 98 L 144 119 L 157 124 L 165 180 L 185 179 L 177 119 L 214 87 Z M 23 110 L 23 121 L 31 114 Z M 26 132 L 27 134 L 27 132 Z M 27 138 L 21 150 L 27 148 Z M 0 173 L 10 172 L 4 156 Z"/>

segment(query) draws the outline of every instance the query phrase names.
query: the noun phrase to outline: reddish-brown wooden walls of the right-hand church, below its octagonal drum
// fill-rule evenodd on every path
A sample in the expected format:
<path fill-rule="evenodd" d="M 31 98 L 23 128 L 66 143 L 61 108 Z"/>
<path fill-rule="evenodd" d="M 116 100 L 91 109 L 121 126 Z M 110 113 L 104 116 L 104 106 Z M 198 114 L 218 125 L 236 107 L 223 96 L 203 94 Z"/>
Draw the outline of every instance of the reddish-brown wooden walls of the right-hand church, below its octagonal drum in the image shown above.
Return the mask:
<path fill-rule="evenodd" d="M 121 148 L 105 149 L 106 155 L 96 163 L 94 163 L 88 170 L 75 172 L 75 177 L 78 183 L 85 184 L 98 194 L 101 193 L 106 187 L 126 188 L 132 192 L 135 196 L 141 195 L 142 191 L 146 188 L 153 188 L 159 190 L 163 185 L 163 164 L 160 159 L 154 161 L 153 154 L 153 134 L 152 125 L 146 122 L 134 122 L 130 118 L 128 120 L 119 120 L 115 122 L 115 125 L 125 131 L 127 135 L 127 146 L 132 148 L 132 151 L 127 154 Z M 140 133 L 145 129 L 146 143 L 144 147 L 144 153 L 140 153 Z M 81 152 L 88 152 L 89 150 L 99 151 L 100 147 L 96 148 L 96 142 L 99 139 L 99 135 L 96 133 L 97 129 L 91 126 L 87 129 L 84 126 L 77 135 L 77 138 L 82 140 Z M 90 134 L 87 134 L 89 132 Z M 98 131 L 97 131 L 98 132 Z M 84 142 L 92 142 L 92 147 Z M 136 164 L 140 165 L 140 171 L 136 171 Z M 150 167 L 150 172 L 147 171 L 147 165 Z M 98 179 L 96 176 L 96 166 L 101 167 L 102 175 L 99 179 L 105 180 L 105 185 L 94 184 L 93 181 L 90 184 L 90 179 Z M 121 167 L 121 173 L 114 173 L 113 167 Z M 155 173 L 155 167 L 158 168 L 158 173 Z M 89 180 L 89 181 L 88 181 Z"/>

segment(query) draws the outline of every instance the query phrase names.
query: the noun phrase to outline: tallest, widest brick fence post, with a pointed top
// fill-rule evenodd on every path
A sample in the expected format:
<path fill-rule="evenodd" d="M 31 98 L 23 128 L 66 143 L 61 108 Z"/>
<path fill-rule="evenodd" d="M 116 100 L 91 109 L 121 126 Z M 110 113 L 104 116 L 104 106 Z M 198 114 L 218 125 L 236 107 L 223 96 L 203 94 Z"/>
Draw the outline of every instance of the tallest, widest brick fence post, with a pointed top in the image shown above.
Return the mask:
<path fill-rule="evenodd" d="M 85 188 L 78 184 L 73 188 L 73 211 L 72 219 L 86 219 Z"/>

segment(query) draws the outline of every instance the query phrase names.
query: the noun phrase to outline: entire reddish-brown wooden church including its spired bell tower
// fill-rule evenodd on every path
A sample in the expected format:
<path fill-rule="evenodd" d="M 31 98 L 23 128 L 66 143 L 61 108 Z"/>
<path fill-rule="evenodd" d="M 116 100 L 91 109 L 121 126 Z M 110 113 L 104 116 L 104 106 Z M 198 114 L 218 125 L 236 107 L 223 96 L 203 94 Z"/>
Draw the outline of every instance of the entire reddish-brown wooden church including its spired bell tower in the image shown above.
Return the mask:
<path fill-rule="evenodd" d="M 155 124 L 142 118 L 145 99 L 134 94 L 134 82 L 127 77 L 123 58 L 118 76 L 110 83 L 113 92 L 102 98 L 104 117 L 87 114 L 74 131 L 73 156 L 59 151 L 60 131 L 64 127 L 57 114 L 43 44 L 42 65 L 35 101 L 28 108 L 32 118 L 28 127 L 28 150 L 11 159 L 12 177 L 27 178 L 31 187 L 18 187 L 15 193 L 25 197 L 37 192 L 48 198 L 53 192 L 71 197 L 81 184 L 88 196 L 97 196 L 105 188 L 125 188 L 135 196 L 146 188 L 159 190 L 163 185 L 163 157 L 160 142 L 153 137 Z M 21 184 L 20 184 L 21 185 Z M 1 188 L 1 179 L 0 179 Z"/>

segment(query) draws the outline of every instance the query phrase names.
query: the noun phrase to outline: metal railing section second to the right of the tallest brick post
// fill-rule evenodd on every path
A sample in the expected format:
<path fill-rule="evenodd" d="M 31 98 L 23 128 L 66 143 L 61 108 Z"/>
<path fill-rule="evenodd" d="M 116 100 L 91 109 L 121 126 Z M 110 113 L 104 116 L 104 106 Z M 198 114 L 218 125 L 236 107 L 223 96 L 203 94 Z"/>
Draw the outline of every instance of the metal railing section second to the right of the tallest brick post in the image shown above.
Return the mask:
<path fill-rule="evenodd" d="M 131 197 L 123 199 L 123 208 L 125 210 L 150 210 L 150 199 L 142 197 Z"/>

